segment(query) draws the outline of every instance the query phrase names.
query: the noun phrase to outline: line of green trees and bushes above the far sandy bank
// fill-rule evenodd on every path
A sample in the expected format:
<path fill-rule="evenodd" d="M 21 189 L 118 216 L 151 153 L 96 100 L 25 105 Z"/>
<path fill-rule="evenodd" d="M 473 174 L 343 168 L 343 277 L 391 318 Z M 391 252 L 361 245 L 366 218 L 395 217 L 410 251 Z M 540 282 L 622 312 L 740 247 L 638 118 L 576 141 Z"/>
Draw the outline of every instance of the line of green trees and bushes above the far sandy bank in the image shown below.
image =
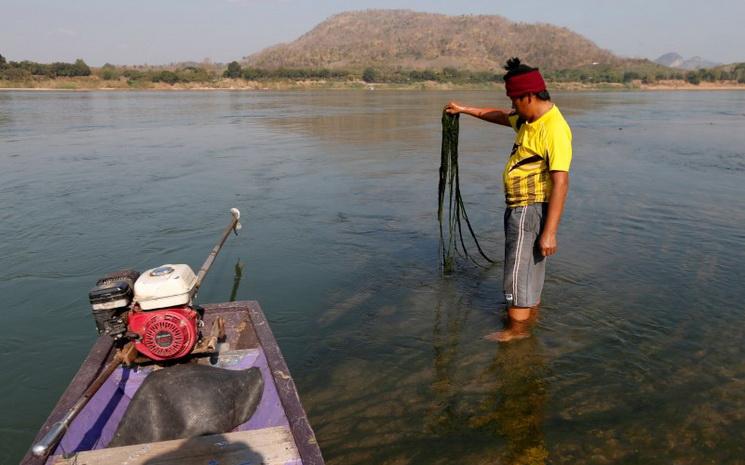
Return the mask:
<path fill-rule="evenodd" d="M 247 81 L 276 80 L 328 80 L 364 81 L 369 84 L 409 84 L 434 81 L 452 84 L 480 84 L 502 82 L 502 72 L 470 71 L 446 67 L 440 70 L 401 70 L 365 68 L 362 71 L 328 68 L 277 68 L 262 69 L 242 66 L 237 61 L 227 66 L 197 65 L 172 67 L 129 67 L 105 64 L 91 69 L 82 59 L 74 63 L 56 62 L 42 64 L 32 61 L 6 61 L 0 55 L 0 79 L 25 82 L 38 78 L 96 76 L 105 81 L 126 80 L 130 86 L 155 83 L 209 83 L 223 78 Z M 735 65 L 684 71 L 666 68 L 646 60 L 633 65 L 614 67 L 610 65 L 588 65 L 582 68 L 545 72 L 546 80 L 551 82 L 581 82 L 586 84 L 631 83 L 641 81 L 654 84 L 658 81 L 678 80 L 691 84 L 701 82 L 736 81 L 745 83 L 745 63 Z"/>

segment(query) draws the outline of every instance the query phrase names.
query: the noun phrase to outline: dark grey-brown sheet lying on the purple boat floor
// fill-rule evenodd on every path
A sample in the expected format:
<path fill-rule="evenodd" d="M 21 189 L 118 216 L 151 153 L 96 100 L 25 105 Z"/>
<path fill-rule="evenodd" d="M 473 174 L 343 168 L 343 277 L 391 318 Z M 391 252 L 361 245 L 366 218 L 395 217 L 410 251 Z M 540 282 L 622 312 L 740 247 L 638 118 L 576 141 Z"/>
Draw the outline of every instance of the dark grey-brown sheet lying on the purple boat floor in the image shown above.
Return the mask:
<path fill-rule="evenodd" d="M 150 374 L 124 412 L 109 447 L 227 433 L 261 400 L 258 368 L 176 365 Z"/>

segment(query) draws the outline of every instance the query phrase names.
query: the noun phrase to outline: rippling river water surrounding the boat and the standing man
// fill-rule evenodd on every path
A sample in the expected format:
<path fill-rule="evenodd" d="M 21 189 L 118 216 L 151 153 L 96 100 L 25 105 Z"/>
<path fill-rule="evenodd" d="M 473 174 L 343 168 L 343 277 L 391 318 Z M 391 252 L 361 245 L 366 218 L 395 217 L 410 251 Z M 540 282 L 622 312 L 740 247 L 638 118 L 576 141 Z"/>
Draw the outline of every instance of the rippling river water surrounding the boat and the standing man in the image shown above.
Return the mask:
<path fill-rule="evenodd" d="M 0 93 L 0 463 L 95 339 L 103 274 L 259 300 L 329 464 L 745 463 L 745 93 L 558 93 L 571 189 L 534 337 L 482 340 L 501 265 L 443 277 L 440 112 L 490 92 Z M 461 119 L 501 257 L 509 129 Z"/>

